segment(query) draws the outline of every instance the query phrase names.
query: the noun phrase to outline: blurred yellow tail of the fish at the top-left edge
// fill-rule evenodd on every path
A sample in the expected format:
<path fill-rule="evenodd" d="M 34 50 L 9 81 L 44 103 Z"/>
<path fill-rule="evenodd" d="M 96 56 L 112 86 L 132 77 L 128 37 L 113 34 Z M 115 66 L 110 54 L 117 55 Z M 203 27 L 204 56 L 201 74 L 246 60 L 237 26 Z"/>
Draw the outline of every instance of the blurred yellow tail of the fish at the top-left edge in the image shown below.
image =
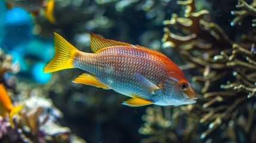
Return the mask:
<path fill-rule="evenodd" d="M 56 20 L 54 18 L 54 0 L 49 0 L 45 8 L 45 17 L 51 24 L 55 24 Z"/>

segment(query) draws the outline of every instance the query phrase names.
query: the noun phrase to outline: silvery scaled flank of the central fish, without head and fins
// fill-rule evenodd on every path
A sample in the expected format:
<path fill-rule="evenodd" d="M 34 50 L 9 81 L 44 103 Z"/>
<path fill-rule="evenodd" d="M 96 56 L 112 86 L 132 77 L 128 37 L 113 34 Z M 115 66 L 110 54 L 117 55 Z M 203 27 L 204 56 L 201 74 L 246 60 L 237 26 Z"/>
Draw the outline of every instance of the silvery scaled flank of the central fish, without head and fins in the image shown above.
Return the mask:
<path fill-rule="evenodd" d="M 134 73 L 140 73 L 155 84 L 166 78 L 165 70 L 168 68 L 152 57 L 155 55 L 142 49 L 129 50 L 126 46 L 116 46 L 103 49 L 97 54 L 79 52 L 73 62 L 76 67 L 94 74 L 101 83 L 115 91 L 129 97 L 131 94 L 140 94 L 143 98 L 152 100 L 148 93 L 140 93 L 140 83 L 134 79 Z"/>

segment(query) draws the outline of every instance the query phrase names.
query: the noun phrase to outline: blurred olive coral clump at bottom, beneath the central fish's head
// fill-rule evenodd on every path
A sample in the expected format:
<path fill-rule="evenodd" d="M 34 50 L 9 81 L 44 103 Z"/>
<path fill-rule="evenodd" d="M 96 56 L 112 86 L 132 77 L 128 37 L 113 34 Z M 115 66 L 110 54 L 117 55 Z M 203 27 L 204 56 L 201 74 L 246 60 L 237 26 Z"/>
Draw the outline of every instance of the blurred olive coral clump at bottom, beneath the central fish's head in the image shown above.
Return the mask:
<path fill-rule="evenodd" d="M 181 114 L 180 114 L 181 113 Z M 198 125 L 196 119 L 187 118 L 180 108 L 148 107 L 142 116 L 144 125 L 138 130 L 143 135 L 153 135 L 141 142 L 193 142 Z"/>

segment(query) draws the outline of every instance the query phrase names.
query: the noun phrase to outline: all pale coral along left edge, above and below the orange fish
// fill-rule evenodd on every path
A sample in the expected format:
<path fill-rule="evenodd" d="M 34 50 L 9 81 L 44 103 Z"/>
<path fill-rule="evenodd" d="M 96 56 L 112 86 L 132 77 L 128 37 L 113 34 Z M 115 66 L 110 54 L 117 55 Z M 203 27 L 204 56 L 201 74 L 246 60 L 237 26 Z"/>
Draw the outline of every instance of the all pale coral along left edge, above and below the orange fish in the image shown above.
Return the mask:
<path fill-rule="evenodd" d="M 5 55 L 0 49 L 1 78 L 8 88 L 13 104 L 22 102 L 23 109 L 14 117 L 14 128 L 11 128 L 9 118 L 0 117 L 0 142 L 85 142 L 73 135 L 67 127 L 60 126 L 58 120 L 63 114 L 53 102 L 44 97 L 44 89 L 32 88 L 27 83 L 18 83 L 5 72 L 17 73 L 18 63 L 12 63 L 13 57 Z M 42 94 L 44 92 L 44 94 Z"/>

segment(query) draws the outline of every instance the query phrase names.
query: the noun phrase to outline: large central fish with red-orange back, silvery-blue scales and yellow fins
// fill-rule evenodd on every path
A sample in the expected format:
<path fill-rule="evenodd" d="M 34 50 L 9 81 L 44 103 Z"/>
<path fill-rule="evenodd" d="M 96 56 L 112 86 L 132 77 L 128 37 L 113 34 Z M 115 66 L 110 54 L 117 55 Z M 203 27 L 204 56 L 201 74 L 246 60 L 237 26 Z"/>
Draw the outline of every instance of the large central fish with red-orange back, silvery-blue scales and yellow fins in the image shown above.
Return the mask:
<path fill-rule="evenodd" d="M 54 33 L 55 55 L 44 67 L 45 73 L 78 68 L 85 73 L 75 83 L 113 89 L 129 98 L 122 104 L 183 105 L 196 102 L 196 92 L 183 71 L 159 51 L 140 45 L 91 35 L 94 53 L 79 51 Z"/>

